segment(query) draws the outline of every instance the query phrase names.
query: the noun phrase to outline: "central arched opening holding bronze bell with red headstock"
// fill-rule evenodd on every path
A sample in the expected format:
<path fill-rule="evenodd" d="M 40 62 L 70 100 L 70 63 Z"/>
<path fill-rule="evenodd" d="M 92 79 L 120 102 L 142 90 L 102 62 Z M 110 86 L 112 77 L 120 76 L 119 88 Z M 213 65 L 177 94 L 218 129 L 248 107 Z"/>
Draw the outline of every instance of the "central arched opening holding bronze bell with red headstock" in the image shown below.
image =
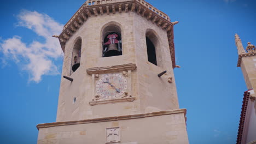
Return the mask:
<path fill-rule="evenodd" d="M 109 25 L 102 31 L 102 57 L 122 55 L 121 28 Z"/>

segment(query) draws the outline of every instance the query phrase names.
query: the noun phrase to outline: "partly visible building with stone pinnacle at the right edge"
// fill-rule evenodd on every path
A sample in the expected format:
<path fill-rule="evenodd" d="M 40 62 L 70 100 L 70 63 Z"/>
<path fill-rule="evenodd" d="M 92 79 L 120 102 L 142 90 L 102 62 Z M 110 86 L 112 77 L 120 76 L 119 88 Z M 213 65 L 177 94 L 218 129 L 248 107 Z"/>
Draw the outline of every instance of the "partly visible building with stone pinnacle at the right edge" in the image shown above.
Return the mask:
<path fill-rule="evenodd" d="M 250 42 L 246 50 L 236 34 L 235 42 L 238 50 L 237 67 L 241 67 L 248 91 L 244 93 L 237 144 L 256 143 L 256 49 Z"/>

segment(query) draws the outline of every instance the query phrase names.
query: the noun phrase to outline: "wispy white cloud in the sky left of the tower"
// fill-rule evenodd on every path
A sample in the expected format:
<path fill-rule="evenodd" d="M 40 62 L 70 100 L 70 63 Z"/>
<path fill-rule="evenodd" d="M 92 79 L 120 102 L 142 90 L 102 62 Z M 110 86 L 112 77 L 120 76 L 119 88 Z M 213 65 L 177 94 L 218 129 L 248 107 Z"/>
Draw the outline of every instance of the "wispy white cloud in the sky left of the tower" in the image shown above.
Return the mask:
<path fill-rule="evenodd" d="M 22 70 L 26 70 L 30 75 L 29 81 L 39 82 L 42 75 L 60 74 L 53 59 L 62 57 L 62 50 L 59 40 L 53 38 L 52 35 L 60 34 L 63 25 L 46 14 L 21 10 L 16 26 L 31 29 L 45 41 L 42 43 L 34 40 L 31 44 L 26 44 L 17 35 L 14 35 L 13 38 L 2 39 L 0 51 L 4 54 L 3 64 L 11 60 L 22 65 Z"/>

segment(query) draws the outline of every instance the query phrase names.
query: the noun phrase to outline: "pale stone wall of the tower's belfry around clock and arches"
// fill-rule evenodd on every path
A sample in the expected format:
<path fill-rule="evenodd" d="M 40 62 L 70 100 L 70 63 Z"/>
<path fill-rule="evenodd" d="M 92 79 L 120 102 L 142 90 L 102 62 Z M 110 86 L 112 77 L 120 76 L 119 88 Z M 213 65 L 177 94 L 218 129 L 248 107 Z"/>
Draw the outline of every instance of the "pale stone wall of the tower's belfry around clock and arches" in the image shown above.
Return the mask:
<path fill-rule="evenodd" d="M 122 56 L 102 57 L 102 27 L 108 23 L 121 28 Z M 155 33 L 159 41 L 155 46 L 158 66 L 147 61 L 148 29 Z M 70 75 L 72 49 L 77 38 L 82 39 L 81 63 Z M 131 94 L 136 100 L 90 106 L 89 101 L 95 95 L 92 95 L 94 86 L 86 69 L 126 63 L 137 65 L 137 70 L 132 71 Z M 164 70 L 167 73 L 159 78 L 157 74 Z M 66 43 L 62 75 L 70 75 L 74 81 L 61 80 L 56 122 L 179 109 L 166 31 L 132 11 L 91 16 Z M 167 82 L 167 77 L 173 78 L 172 83 Z"/>

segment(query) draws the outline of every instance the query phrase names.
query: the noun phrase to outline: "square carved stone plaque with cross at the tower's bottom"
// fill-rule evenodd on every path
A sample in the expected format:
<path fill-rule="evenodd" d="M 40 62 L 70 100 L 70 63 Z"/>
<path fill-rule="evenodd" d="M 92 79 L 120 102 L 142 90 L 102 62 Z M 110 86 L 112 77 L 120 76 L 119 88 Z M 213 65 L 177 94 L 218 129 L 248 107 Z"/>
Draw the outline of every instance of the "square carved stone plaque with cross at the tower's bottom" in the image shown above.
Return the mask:
<path fill-rule="evenodd" d="M 120 142 L 120 129 L 119 127 L 106 129 L 106 143 Z"/>

